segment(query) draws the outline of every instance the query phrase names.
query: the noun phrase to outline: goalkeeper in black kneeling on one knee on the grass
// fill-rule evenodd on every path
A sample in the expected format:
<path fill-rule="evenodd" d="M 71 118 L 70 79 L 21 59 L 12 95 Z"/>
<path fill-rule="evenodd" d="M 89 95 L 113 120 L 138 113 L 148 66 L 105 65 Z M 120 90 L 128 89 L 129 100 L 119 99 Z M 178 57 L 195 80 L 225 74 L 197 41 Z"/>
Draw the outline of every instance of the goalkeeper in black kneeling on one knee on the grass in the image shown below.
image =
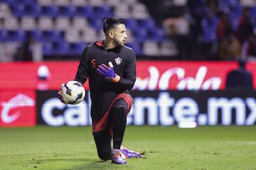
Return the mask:
<path fill-rule="evenodd" d="M 126 164 L 126 158 L 142 157 L 122 147 L 133 103 L 129 91 L 136 81 L 136 56 L 132 48 L 124 45 L 127 33 L 122 18 L 107 18 L 103 31 L 105 40 L 83 50 L 74 80 L 82 84 L 87 78 L 89 81 L 92 134 L 98 156 L 112 159 L 114 164 Z"/>

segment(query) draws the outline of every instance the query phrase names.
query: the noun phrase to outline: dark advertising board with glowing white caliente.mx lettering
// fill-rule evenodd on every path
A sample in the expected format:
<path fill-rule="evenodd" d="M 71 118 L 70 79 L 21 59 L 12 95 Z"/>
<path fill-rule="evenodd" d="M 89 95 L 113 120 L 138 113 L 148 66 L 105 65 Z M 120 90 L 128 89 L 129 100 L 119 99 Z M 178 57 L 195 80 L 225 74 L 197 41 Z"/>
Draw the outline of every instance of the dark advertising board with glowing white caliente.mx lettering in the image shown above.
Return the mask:
<path fill-rule="evenodd" d="M 78 105 L 65 105 L 56 91 L 37 91 L 37 124 L 91 125 L 90 96 Z M 134 105 L 128 125 L 254 125 L 255 91 L 132 91 Z M 41 97 L 43 96 L 43 97 Z"/>

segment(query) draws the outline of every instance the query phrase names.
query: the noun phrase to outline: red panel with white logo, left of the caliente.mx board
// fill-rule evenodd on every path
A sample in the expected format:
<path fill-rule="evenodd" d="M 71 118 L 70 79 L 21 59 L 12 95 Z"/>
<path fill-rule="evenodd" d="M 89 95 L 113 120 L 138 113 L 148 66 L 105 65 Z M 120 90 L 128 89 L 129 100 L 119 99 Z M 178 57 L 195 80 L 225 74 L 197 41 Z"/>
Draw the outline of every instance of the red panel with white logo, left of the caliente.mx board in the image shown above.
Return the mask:
<path fill-rule="evenodd" d="M 12 92 L 12 93 L 11 93 Z M 10 96 L 10 93 L 12 94 Z M 5 101 L 1 96 L 1 121 L 0 125 L 18 126 L 33 125 L 35 122 L 35 100 L 31 97 L 31 91 L 26 94 L 9 91 L 9 100 Z M 33 96 L 33 94 L 32 94 Z"/>

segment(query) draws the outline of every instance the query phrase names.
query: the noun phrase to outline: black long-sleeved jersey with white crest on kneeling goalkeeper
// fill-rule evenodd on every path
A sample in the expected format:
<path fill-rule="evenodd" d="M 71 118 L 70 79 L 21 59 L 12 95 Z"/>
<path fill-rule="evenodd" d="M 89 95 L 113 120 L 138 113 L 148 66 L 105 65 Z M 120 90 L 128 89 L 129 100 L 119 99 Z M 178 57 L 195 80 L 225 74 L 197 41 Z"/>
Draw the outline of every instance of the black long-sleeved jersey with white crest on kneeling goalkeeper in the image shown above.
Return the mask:
<path fill-rule="evenodd" d="M 108 65 L 108 62 L 112 62 L 114 72 L 120 77 L 117 83 L 97 74 L 98 65 L 102 63 Z M 136 56 L 134 50 L 125 45 L 106 50 L 103 46 L 103 41 L 87 45 L 80 57 L 75 80 L 84 84 L 87 78 L 92 100 L 91 117 L 92 120 L 99 120 L 118 94 L 122 92 L 129 93 L 134 86 L 136 81 Z"/>

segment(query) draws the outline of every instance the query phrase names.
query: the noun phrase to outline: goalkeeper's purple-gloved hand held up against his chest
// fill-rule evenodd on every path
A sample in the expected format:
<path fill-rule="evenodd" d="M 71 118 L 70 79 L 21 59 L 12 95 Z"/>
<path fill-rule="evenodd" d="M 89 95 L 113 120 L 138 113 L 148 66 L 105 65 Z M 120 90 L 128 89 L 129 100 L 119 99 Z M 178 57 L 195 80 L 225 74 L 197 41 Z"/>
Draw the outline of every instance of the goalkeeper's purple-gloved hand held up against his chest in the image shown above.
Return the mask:
<path fill-rule="evenodd" d="M 111 79 L 113 82 L 118 82 L 120 77 L 114 73 L 114 66 L 112 62 L 108 62 L 109 66 L 106 64 L 100 64 L 97 67 L 97 74 L 107 79 Z"/>

